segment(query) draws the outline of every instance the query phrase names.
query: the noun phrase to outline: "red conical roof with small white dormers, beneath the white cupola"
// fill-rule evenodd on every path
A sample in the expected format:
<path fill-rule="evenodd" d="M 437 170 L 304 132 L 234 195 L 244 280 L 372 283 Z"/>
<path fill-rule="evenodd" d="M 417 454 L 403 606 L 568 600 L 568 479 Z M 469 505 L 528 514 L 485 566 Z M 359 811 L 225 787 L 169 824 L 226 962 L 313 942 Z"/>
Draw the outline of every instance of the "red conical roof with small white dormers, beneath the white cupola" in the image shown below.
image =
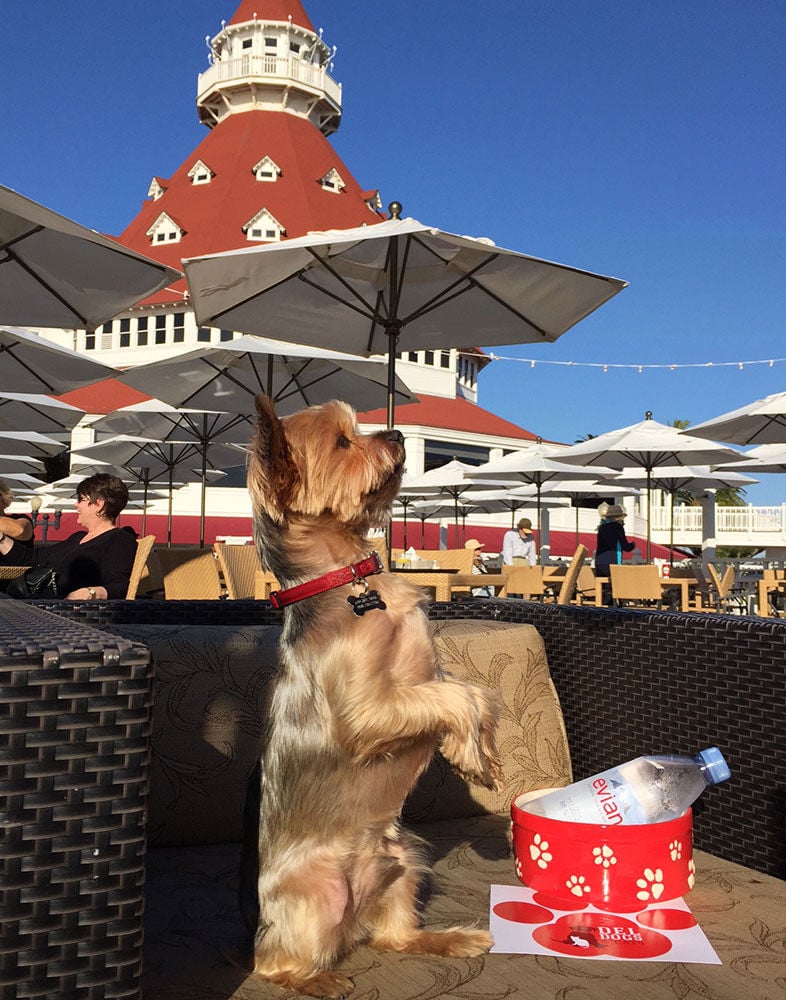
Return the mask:
<path fill-rule="evenodd" d="M 254 175 L 265 156 L 281 171 L 275 182 Z M 208 184 L 193 184 L 188 176 L 197 160 L 213 171 Z M 333 167 L 345 185 L 340 193 L 320 184 Z M 179 269 L 183 257 L 253 246 L 243 226 L 263 208 L 284 226 L 287 238 L 383 218 L 369 208 L 363 188 L 311 122 L 281 111 L 246 111 L 227 116 L 207 133 L 167 178 L 164 194 L 144 202 L 120 241 Z M 177 242 L 151 244 L 147 231 L 162 212 L 184 233 Z M 185 288 L 185 282 L 175 287 Z"/>

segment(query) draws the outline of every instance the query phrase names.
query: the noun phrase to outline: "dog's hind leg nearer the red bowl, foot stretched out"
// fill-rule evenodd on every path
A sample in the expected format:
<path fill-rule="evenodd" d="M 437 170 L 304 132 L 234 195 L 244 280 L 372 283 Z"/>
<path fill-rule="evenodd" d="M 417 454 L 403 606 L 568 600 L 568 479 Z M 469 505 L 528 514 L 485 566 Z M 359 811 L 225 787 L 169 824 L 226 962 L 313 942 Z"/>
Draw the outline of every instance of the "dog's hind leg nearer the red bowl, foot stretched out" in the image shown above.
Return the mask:
<path fill-rule="evenodd" d="M 447 958 L 482 955 L 493 944 L 487 931 L 472 927 L 428 931 L 421 927 L 417 892 L 425 865 L 419 844 L 417 838 L 402 832 L 400 840 L 391 846 L 402 874 L 380 895 L 373 909 L 364 914 L 364 922 L 371 929 L 370 947 Z"/>

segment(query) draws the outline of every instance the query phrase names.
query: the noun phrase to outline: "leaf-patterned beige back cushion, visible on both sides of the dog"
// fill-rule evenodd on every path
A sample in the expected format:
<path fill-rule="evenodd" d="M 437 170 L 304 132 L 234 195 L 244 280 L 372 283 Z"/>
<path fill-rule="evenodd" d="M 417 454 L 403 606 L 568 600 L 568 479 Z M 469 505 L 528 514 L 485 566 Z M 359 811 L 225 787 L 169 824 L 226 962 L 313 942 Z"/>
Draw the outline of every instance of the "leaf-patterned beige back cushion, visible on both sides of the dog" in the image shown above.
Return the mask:
<path fill-rule="evenodd" d="M 500 688 L 504 786 L 468 785 L 436 757 L 407 802 L 410 822 L 507 814 L 514 795 L 565 785 L 570 757 L 543 642 L 531 625 L 433 625 L 446 670 Z M 261 751 L 278 662 L 277 626 L 117 625 L 153 654 L 155 680 L 148 837 L 157 845 L 242 837 L 248 779 Z"/>

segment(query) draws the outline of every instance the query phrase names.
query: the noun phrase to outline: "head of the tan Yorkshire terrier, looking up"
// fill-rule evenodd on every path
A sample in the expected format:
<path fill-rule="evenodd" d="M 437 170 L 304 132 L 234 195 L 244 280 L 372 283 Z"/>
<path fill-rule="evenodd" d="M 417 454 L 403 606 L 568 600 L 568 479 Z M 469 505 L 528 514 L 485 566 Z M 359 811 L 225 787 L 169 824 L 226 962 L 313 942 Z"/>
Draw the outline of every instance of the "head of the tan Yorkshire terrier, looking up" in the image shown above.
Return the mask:
<path fill-rule="evenodd" d="M 361 434 L 355 411 L 334 400 L 279 419 L 257 396 L 248 489 L 255 510 L 279 525 L 328 515 L 367 530 L 390 516 L 404 470 L 399 431 Z"/>

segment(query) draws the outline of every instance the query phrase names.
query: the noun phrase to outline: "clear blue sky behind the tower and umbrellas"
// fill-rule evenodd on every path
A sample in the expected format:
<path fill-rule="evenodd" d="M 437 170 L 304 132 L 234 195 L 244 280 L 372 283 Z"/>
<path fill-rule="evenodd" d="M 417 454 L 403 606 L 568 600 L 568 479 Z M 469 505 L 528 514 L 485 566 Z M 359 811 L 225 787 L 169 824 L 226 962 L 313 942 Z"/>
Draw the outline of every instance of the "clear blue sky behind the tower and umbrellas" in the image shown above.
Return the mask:
<path fill-rule="evenodd" d="M 555 344 L 492 349 L 536 364 L 489 365 L 481 405 L 572 442 L 786 390 L 786 360 L 744 364 L 786 359 L 782 0 L 305 6 L 337 46 L 332 141 L 363 187 L 630 282 Z M 0 182 L 120 232 L 200 141 L 205 35 L 235 7 L 10 0 Z M 748 499 L 786 501 L 786 477 Z"/>

